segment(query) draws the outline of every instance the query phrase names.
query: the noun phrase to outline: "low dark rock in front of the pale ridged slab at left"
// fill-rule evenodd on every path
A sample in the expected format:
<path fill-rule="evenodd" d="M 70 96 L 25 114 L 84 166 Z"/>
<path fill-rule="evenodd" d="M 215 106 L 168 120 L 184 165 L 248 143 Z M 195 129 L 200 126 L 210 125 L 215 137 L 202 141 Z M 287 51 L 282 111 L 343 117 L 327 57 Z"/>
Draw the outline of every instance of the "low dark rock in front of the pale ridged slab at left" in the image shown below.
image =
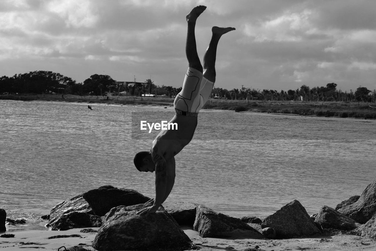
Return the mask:
<path fill-rule="evenodd" d="M 102 218 L 88 213 L 71 212 L 54 218 L 49 226 L 51 230 L 68 230 L 72 228 L 100 227 Z"/>

